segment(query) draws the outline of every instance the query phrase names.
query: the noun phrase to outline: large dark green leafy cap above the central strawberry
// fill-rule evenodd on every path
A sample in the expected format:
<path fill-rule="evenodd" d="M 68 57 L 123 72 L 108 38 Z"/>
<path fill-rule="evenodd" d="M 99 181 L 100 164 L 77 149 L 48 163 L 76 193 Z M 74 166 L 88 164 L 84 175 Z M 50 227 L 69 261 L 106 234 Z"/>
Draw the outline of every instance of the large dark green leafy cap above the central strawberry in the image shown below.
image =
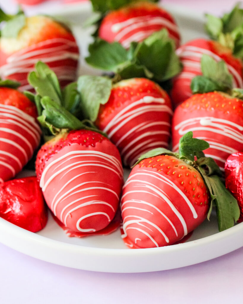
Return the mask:
<path fill-rule="evenodd" d="M 153 33 L 142 42 L 132 42 L 126 50 L 120 43 L 97 38 L 85 58 L 91 66 L 118 74 L 121 79 L 149 78 L 167 81 L 180 73 L 182 65 L 175 53 L 175 42 L 167 29 Z"/>

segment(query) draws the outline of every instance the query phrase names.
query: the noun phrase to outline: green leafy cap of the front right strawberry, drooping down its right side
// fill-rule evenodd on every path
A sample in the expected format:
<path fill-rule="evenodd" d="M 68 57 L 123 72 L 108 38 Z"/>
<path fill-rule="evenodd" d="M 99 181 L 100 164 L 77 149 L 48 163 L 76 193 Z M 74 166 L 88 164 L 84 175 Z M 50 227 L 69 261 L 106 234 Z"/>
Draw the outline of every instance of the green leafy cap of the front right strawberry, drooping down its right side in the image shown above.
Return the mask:
<path fill-rule="evenodd" d="M 211 157 L 205 157 L 203 150 L 208 147 L 209 144 L 205 140 L 193 138 L 193 132 L 188 132 L 180 138 L 179 154 L 164 148 L 156 148 L 141 155 L 136 164 L 140 164 L 144 159 L 152 159 L 158 155 L 172 155 L 195 168 L 202 176 L 210 192 L 211 203 L 207 218 L 210 218 L 212 208 L 215 206 L 218 229 L 223 231 L 234 226 L 234 223 L 238 221 L 240 209 L 237 200 L 225 188 L 218 165 Z"/>

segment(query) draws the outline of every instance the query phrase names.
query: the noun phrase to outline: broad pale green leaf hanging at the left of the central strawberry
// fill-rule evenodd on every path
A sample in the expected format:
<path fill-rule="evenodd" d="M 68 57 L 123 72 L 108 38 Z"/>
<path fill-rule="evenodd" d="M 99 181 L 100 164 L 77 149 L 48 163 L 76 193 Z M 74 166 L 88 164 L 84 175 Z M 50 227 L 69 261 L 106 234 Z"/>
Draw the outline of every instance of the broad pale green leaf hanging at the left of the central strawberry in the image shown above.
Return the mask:
<path fill-rule="evenodd" d="M 105 77 L 86 75 L 78 78 L 77 90 L 85 119 L 96 120 L 100 105 L 108 102 L 111 86 L 111 79 Z"/>

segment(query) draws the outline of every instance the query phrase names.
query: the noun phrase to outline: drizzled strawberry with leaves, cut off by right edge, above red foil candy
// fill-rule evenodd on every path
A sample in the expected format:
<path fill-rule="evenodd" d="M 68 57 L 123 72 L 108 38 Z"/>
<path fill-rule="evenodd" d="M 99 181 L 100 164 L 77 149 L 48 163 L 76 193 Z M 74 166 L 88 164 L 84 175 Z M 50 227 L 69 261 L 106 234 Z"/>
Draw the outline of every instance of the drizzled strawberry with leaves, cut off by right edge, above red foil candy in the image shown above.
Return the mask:
<path fill-rule="evenodd" d="M 191 88 L 195 93 L 207 93 L 195 94 L 176 108 L 172 126 L 173 151 L 178 151 L 180 137 L 193 131 L 197 138 L 210 144 L 206 156 L 212 157 L 224 170 L 227 157 L 243 149 L 243 102 L 234 98 L 241 90 L 231 90 L 232 76 L 223 61 L 216 63 L 204 55 L 202 67 L 204 76 L 195 77 Z"/>

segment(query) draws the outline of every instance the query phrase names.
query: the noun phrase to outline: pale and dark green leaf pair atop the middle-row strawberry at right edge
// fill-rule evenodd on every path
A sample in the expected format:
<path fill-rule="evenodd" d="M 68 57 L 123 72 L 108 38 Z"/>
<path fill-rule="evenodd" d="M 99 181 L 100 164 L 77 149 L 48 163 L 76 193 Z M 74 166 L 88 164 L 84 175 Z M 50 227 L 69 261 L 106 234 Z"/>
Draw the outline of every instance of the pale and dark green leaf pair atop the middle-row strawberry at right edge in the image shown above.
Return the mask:
<path fill-rule="evenodd" d="M 193 94 L 213 91 L 228 92 L 232 89 L 233 77 L 224 60 L 217 62 L 212 57 L 203 54 L 201 70 L 203 76 L 196 76 L 192 79 L 191 90 Z"/>

